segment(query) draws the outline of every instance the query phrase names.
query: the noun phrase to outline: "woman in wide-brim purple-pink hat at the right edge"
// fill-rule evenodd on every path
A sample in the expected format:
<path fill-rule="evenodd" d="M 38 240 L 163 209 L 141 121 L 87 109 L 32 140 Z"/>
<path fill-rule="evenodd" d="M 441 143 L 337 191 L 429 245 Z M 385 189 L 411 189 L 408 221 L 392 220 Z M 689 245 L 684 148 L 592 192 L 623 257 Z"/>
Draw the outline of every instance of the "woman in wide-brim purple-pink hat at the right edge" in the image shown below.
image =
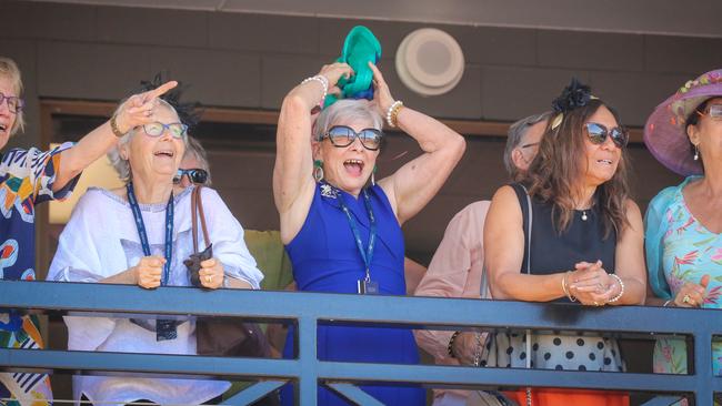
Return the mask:
<path fill-rule="evenodd" d="M 686 179 L 650 203 L 645 250 L 646 304 L 719 308 L 722 293 L 722 69 L 682 85 L 650 115 L 644 143 Z M 722 343 L 712 343 L 714 374 Z M 686 374 L 683 341 L 661 338 L 654 371 Z"/>

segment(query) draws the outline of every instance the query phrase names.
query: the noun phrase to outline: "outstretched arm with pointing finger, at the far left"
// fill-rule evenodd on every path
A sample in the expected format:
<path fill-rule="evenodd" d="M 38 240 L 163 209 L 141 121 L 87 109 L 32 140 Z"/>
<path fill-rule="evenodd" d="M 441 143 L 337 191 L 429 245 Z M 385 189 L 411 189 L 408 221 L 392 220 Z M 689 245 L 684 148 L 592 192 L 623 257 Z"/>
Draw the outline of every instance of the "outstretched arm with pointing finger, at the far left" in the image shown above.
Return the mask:
<path fill-rule="evenodd" d="M 138 125 L 152 121 L 150 113 L 160 95 L 176 88 L 178 82 L 170 81 L 151 91 L 132 95 L 120 105 L 113 118 L 83 136 L 78 143 L 60 155 L 60 169 L 53 183 L 53 192 L 62 190 L 68 182 L 78 176 L 97 159 L 106 154 L 118 142 L 118 134 L 124 134 Z M 111 121 L 114 120 L 118 134 Z"/>

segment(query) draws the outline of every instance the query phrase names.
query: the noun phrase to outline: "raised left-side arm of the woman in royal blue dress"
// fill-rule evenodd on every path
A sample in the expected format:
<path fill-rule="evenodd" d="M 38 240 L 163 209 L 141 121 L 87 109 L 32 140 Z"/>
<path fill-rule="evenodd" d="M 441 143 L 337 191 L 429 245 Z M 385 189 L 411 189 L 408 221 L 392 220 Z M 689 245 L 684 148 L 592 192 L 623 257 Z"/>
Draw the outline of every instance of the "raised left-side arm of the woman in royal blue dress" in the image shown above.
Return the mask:
<path fill-rule="evenodd" d="M 353 71 L 345 63 L 324 65 L 317 77 L 297 85 L 281 104 L 275 135 L 275 165 L 273 166 L 273 199 L 281 216 L 281 240 L 288 244 L 301 230 L 313 199 L 314 181 L 311 133 L 311 112 L 328 93 L 338 93 L 335 83 L 341 75 Z"/>

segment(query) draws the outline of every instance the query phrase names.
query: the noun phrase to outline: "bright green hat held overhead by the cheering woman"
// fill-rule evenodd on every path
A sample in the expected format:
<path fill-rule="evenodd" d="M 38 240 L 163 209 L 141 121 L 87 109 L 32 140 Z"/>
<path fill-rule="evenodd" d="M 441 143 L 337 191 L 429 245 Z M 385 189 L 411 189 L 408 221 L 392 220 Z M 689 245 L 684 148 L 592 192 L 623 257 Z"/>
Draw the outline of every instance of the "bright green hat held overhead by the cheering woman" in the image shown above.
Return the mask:
<path fill-rule="evenodd" d="M 381 43 L 379 43 L 371 30 L 363 26 L 352 28 L 345 37 L 343 52 L 337 62 L 348 63 L 355 74 L 339 80 L 340 98 L 373 100 L 373 72 L 369 68 L 369 62 L 377 64 L 379 60 L 381 60 Z M 325 97 L 323 106 L 328 108 L 337 100 L 339 100 L 339 97 L 329 94 Z"/>

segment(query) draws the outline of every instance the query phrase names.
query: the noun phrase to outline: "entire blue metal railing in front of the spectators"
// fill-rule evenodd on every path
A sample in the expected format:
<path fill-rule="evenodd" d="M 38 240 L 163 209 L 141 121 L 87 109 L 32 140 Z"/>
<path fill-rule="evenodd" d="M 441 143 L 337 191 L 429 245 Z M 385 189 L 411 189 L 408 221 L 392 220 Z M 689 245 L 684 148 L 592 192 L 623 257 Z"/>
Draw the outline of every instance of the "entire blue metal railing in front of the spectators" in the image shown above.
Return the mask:
<path fill-rule="evenodd" d="M 711 341 L 722 334 L 721 313 L 686 308 L 582 307 L 432 297 L 359 296 L 323 293 L 268 292 L 136 286 L 77 283 L 0 281 L 0 307 L 61 314 L 93 312 L 98 316 L 133 314 L 237 316 L 268 323 L 297 325 L 298 359 L 230 358 L 31 351 L 0 348 L 0 369 L 54 373 L 143 373 L 174 377 L 263 380 L 229 399 L 249 404 L 283 385 L 295 382 L 301 405 L 315 405 L 317 384 L 323 384 L 360 404 L 371 399 L 353 385 L 424 384 L 429 387 L 562 387 L 693 393 L 698 405 L 712 405 L 722 392 L 722 378 L 712 374 Z M 166 318 L 166 317 L 164 317 Z M 495 327 L 511 329 L 593 331 L 682 334 L 693 337 L 693 368 L 689 375 L 471 368 L 464 366 L 340 363 L 317 359 L 319 324 L 460 329 Z M 353 385 L 349 385 L 353 384 Z"/>

